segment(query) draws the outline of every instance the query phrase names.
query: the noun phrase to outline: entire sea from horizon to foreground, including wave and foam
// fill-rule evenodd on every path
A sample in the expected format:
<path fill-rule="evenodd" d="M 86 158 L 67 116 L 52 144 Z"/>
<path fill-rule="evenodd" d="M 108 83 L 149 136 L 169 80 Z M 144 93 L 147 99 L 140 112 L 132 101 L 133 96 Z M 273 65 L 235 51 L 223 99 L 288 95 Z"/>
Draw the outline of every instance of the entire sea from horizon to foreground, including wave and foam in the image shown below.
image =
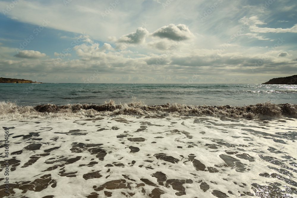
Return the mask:
<path fill-rule="evenodd" d="M 0 197 L 297 197 L 297 85 L 0 84 Z"/>

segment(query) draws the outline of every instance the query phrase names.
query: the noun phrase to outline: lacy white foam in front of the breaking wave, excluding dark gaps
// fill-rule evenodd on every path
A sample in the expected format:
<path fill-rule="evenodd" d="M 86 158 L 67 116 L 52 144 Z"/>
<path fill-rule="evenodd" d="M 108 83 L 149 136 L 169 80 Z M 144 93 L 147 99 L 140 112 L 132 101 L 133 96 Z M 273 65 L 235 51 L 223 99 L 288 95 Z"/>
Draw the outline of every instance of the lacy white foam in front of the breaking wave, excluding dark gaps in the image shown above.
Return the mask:
<path fill-rule="evenodd" d="M 173 106 L 172 108 L 175 107 Z M 22 190 L 14 189 L 15 195 L 10 197 L 44 197 L 47 195 L 53 195 L 58 198 L 87 197 L 93 192 L 99 194 L 99 197 L 105 197 L 104 191 L 112 192 L 112 197 L 123 197 L 122 193 L 126 195 L 128 193 L 135 193 L 133 197 L 149 197 L 149 194 L 155 188 L 164 191 L 164 194 L 160 196 L 161 198 L 177 197 L 176 193 L 178 193 L 178 190 L 173 189 L 172 185 L 166 187 L 166 182 L 164 182 L 164 186 L 159 185 L 157 178 L 151 176 L 156 172 L 164 173 L 167 177 L 166 181 L 170 179 L 192 180 L 192 183 L 184 183 L 182 185 L 185 188 L 186 194 L 180 197 L 214 197 L 211 194 L 213 190 L 221 191 L 229 197 L 233 197 L 233 195 L 229 194 L 228 191 L 232 191 L 236 197 L 244 194 L 244 192 L 251 192 L 256 195 L 252 189 L 254 188 L 251 185 L 252 183 L 265 186 L 269 185 L 269 182 L 280 183 L 281 185 L 278 187 L 284 190 L 284 192 L 281 192 L 282 194 L 285 194 L 285 186 L 296 188 L 296 186 L 288 184 L 283 180 L 273 177 L 266 178 L 259 175 L 260 173 L 268 173 L 269 175 L 274 173 L 292 181 L 295 180 L 297 173 L 292 171 L 292 169 L 297 169 L 297 167 L 289 163 L 296 162 L 297 156 L 294 149 L 296 142 L 293 137 L 279 135 L 277 133 L 297 133 L 295 129 L 296 119 L 253 121 L 211 116 L 146 117 L 122 114 L 117 116 L 97 116 L 89 120 L 85 120 L 86 118 L 70 119 L 69 117 L 68 120 L 61 120 L 59 117 L 55 117 L 57 119 L 54 120 L 52 119 L 53 116 L 49 117 L 50 119 L 23 119 L 20 120 L 21 122 L 17 120 L 1 121 L 2 126 L 15 127 L 9 129 L 11 134 L 9 139 L 10 158 L 15 157 L 15 159 L 20 160 L 20 165 L 15 167 L 16 170 L 10 171 L 10 183 L 31 182 L 47 174 L 51 175 L 51 180 L 57 182 L 55 188 L 51 187 L 50 184 L 40 192 L 28 190 L 22 193 Z M 98 119 L 96 120 L 95 118 Z M 105 130 L 100 130 L 103 128 Z M 70 130 L 80 130 L 79 133 L 86 133 L 86 135 L 72 135 L 71 132 L 69 133 Z M 23 139 L 23 137 L 12 138 L 17 135 L 29 135 L 32 132 L 38 133 L 37 135 L 39 136 L 32 136 L 26 139 Z M 127 136 L 118 138 L 118 135 Z M 128 138 L 144 138 L 145 141 L 132 142 Z M 278 140 L 282 140 L 283 142 Z M 38 143 L 42 145 L 39 150 L 30 151 L 24 149 L 24 147 L 30 144 Z M 91 154 L 88 151 L 88 149 L 95 146 L 85 147 L 84 149 L 77 147 L 82 152 L 72 152 L 70 149 L 73 149 L 73 146 L 78 143 L 102 144 L 99 147 L 105 150 L 107 154 L 103 161 L 101 161 L 96 157 L 96 154 Z M 214 147 L 209 148 L 209 145 L 213 145 L 217 149 Z M 140 150 L 136 153 L 131 153 L 129 146 L 137 147 Z M 48 156 L 39 156 L 40 159 L 35 163 L 22 168 L 25 163 L 32 159 L 30 157 L 37 154 L 44 154 L 44 150 L 54 147 L 59 148 L 50 151 L 50 155 Z M 279 152 L 275 152 L 271 147 Z M 15 151 L 23 152 L 12 155 L 11 153 Z M 231 154 L 230 152 L 237 153 Z M 157 159 L 156 154 L 160 153 L 174 157 L 178 159 L 178 162 L 171 163 Z M 199 160 L 206 166 L 205 170 L 208 170 L 207 167 L 213 167 L 219 172 L 210 173 L 209 171 L 196 170 L 189 157 L 191 154 L 196 156 L 194 158 L 195 160 Z M 236 156 L 238 154 L 248 155 L 254 161 L 242 159 L 240 156 Z M 224 166 L 226 162 L 220 157 L 221 155 L 232 157 L 235 161 L 238 160 L 238 163 L 242 163 L 245 168 L 243 172 L 238 172 L 240 165 L 234 167 Z M 269 163 L 263 160 L 260 155 L 274 157 L 275 162 L 278 161 L 283 163 L 283 165 L 279 166 Z M 290 156 L 292 158 L 285 159 L 284 156 Z M 49 167 L 63 165 L 66 162 L 54 161 L 75 157 L 81 158 L 74 163 L 66 164 L 55 170 L 42 172 Z M 134 165 L 132 165 L 133 160 L 135 161 Z M 45 162 L 54 163 L 46 164 Z M 79 167 L 79 165 L 87 165 L 90 162 L 98 162 L 98 164 L 95 164 L 93 167 Z M 119 163 L 123 164 L 123 166 L 115 166 Z M 113 165 L 113 167 L 106 166 L 108 164 Z M 268 166 L 284 169 L 292 174 L 292 176 L 279 173 Z M 285 166 L 290 167 L 291 170 L 286 169 Z M 108 171 L 109 169 L 110 171 Z M 65 173 L 74 172 L 73 175 L 76 175 L 76 177 L 61 176 L 61 171 L 63 170 L 65 170 Z M 102 175 L 101 178 L 88 180 L 83 178 L 84 174 L 98 170 L 100 170 L 99 174 Z M 3 170 L 1 171 L 2 173 Z M 124 178 L 123 175 L 126 175 L 131 180 Z M 96 186 L 96 189 L 106 182 L 119 179 L 124 179 L 126 184 L 131 183 L 131 189 L 105 188 L 102 191 L 95 191 L 93 189 L 93 186 Z M 155 186 L 145 184 L 145 186 L 136 187 L 137 184 L 144 183 L 140 179 L 148 179 Z M 209 189 L 206 192 L 200 189 L 202 182 L 209 185 Z M 142 192 L 142 188 L 145 190 L 145 193 Z M 256 191 L 258 192 L 259 190 Z M 287 192 L 287 194 L 290 193 Z M 290 196 L 296 197 L 293 193 Z"/>

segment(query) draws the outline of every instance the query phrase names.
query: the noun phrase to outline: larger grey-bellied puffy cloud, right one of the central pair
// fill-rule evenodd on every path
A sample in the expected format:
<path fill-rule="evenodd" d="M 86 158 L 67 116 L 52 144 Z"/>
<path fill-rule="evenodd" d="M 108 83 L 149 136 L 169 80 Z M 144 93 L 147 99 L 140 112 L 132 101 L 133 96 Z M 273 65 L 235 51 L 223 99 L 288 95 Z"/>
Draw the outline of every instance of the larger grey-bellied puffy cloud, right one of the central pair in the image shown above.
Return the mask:
<path fill-rule="evenodd" d="M 184 24 L 169 24 L 157 29 L 152 33 L 152 36 L 158 36 L 160 38 L 167 38 L 174 41 L 187 40 L 193 37 L 193 34 L 189 28 Z"/>

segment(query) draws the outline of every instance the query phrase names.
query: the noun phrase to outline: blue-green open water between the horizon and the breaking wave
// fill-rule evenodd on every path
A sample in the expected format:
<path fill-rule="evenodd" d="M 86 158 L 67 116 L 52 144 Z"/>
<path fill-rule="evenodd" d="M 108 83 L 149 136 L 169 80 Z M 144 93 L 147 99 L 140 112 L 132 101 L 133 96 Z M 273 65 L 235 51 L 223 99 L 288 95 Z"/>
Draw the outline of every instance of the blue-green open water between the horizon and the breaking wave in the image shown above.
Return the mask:
<path fill-rule="evenodd" d="M 17 105 L 129 103 L 132 97 L 147 105 L 244 106 L 257 103 L 297 104 L 297 85 L 264 84 L 0 84 L 0 101 Z"/>

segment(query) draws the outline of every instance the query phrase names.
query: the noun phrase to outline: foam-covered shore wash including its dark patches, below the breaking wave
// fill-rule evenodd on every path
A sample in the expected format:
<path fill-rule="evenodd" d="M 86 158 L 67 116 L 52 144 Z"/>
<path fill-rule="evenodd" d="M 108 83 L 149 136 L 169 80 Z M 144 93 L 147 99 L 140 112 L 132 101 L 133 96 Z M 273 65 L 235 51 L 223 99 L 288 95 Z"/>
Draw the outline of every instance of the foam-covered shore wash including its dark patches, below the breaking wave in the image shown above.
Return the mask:
<path fill-rule="evenodd" d="M 10 134 L 8 197 L 297 194 L 295 119 L 121 115 L 1 124 Z"/>

